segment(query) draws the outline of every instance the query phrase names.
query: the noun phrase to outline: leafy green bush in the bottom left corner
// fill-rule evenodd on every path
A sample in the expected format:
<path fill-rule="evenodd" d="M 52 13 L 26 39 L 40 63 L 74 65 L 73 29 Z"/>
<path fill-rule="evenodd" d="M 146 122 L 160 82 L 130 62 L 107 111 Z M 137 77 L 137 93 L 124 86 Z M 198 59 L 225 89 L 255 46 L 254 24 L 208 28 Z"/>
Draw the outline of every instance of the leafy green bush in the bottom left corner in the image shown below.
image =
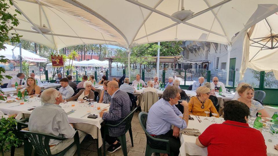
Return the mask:
<path fill-rule="evenodd" d="M 4 152 L 9 151 L 12 146 L 18 147 L 22 144 L 23 140 L 16 137 L 19 133 L 16 126 L 17 121 L 13 118 L 0 119 L 0 156 L 3 156 Z"/>

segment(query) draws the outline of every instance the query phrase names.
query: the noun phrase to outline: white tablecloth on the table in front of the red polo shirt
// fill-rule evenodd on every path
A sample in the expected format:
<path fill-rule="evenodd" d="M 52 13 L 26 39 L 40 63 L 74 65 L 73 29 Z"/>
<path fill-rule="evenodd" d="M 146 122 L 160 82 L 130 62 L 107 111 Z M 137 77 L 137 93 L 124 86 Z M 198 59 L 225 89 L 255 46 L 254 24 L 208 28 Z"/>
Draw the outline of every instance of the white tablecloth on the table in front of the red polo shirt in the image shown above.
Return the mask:
<path fill-rule="evenodd" d="M 202 120 L 201 123 L 198 122 L 198 120 L 195 116 L 191 115 L 191 117 L 193 117 L 194 120 L 189 120 L 189 123 L 188 123 L 189 126 L 187 128 L 199 129 L 201 133 L 203 133 L 204 130 L 207 127 L 209 127 L 209 125 L 212 124 L 212 122 L 208 122 L 208 120 L 203 121 L 203 119 L 206 118 L 206 117 L 200 116 L 200 118 Z M 213 119 L 210 118 L 210 121 L 212 121 L 212 120 Z M 220 119 L 216 119 L 216 121 L 218 123 L 221 122 Z M 222 121 L 222 122 L 224 122 L 224 121 Z M 278 143 L 278 139 L 272 138 L 270 136 L 271 135 L 270 133 L 263 133 L 263 135 L 264 135 L 264 138 L 266 140 L 265 143 L 266 143 L 266 146 L 267 146 L 267 155 L 268 156 L 278 156 L 278 151 L 273 149 L 273 146 Z M 180 134 L 180 142 L 181 142 L 180 155 L 181 156 L 185 156 L 186 154 L 188 154 L 188 155 L 200 155 L 200 156 L 208 155 L 207 148 L 201 148 L 201 147 L 199 147 L 195 144 L 196 138 L 197 137 L 195 137 L 193 135 Z M 268 139 L 271 139 L 272 142 L 268 142 Z"/>

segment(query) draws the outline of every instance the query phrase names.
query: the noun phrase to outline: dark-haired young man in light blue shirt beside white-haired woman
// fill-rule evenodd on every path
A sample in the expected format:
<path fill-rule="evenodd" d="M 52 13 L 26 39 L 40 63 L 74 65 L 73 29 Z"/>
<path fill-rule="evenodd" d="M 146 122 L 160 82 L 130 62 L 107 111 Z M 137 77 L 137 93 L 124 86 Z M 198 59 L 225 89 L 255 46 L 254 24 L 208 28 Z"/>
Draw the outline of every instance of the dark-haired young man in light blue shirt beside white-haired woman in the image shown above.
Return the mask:
<path fill-rule="evenodd" d="M 62 78 L 60 79 L 61 88 L 59 92 L 62 94 L 64 100 L 69 99 L 74 94 L 74 90 L 69 86 L 69 79 Z"/>

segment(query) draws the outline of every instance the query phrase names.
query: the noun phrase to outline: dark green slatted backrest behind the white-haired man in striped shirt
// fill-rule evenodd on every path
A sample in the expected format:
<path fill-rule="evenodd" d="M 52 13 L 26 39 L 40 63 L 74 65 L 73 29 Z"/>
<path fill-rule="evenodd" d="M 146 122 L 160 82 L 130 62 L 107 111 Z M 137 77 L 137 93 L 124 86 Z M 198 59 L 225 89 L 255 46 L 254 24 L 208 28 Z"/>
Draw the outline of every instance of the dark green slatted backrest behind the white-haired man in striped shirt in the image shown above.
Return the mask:
<path fill-rule="evenodd" d="M 54 135 L 44 134 L 44 133 L 36 133 L 30 131 L 23 131 L 22 133 L 28 138 L 30 143 L 36 150 L 36 153 L 39 155 L 51 155 L 50 147 L 49 147 L 49 140 L 65 140 L 66 138 L 60 138 Z"/>

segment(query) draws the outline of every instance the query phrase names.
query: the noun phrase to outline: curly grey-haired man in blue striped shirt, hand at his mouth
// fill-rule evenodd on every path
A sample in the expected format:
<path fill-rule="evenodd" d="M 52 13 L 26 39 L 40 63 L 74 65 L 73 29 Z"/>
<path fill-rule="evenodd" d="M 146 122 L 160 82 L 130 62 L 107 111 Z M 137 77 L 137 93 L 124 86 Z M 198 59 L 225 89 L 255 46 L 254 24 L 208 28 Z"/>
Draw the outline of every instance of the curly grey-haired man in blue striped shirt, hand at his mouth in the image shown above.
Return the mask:
<path fill-rule="evenodd" d="M 155 138 L 169 140 L 170 150 L 174 155 L 180 153 L 180 128 L 184 129 L 188 125 L 188 103 L 180 103 L 184 107 L 183 115 L 175 106 L 180 100 L 180 89 L 169 86 L 164 90 L 162 99 L 153 104 L 148 113 L 147 131 Z M 171 129 L 171 125 L 174 128 Z M 147 137 L 151 148 L 166 149 L 166 143 L 154 141 Z"/>

